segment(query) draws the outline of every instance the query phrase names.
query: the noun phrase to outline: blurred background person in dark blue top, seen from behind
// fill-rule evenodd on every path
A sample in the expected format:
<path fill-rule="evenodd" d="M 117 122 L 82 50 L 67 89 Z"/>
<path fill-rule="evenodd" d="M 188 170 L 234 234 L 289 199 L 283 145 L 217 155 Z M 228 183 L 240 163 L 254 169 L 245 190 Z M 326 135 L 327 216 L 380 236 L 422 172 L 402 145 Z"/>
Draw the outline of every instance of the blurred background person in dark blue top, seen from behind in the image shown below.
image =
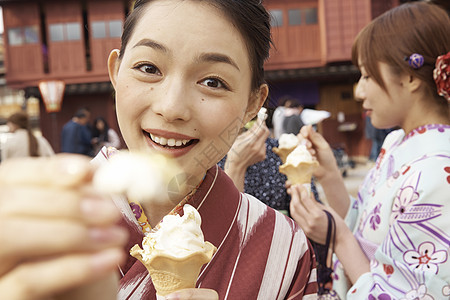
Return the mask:
<path fill-rule="evenodd" d="M 61 132 L 61 152 L 93 156 L 92 133 L 88 127 L 91 112 L 87 108 L 78 109 Z"/>

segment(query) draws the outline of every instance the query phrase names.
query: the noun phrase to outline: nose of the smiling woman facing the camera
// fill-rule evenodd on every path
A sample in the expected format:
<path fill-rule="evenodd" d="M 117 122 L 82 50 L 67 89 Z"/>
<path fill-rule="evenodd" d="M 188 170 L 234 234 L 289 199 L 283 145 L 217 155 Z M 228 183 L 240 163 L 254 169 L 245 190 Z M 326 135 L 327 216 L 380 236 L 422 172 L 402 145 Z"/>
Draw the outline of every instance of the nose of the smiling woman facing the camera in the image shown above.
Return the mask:
<path fill-rule="evenodd" d="M 156 115 L 161 116 L 167 122 L 187 121 L 190 118 L 189 90 L 186 84 L 180 80 L 165 80 L 160 86 L 152 109 Z"/>

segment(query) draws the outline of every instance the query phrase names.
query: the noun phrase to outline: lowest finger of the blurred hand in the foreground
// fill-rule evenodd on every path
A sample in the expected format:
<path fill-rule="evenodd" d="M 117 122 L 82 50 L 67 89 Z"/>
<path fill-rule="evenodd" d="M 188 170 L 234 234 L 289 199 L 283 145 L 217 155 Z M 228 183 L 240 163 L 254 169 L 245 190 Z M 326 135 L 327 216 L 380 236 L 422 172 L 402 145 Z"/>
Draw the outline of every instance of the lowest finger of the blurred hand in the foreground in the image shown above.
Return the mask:
<path fill-rule="evenodd" d="M 0 279 L 5 299 L 41 299 L 87 284 L 114 272 L 125 255 L 121 249 L 24 263 Z"/>

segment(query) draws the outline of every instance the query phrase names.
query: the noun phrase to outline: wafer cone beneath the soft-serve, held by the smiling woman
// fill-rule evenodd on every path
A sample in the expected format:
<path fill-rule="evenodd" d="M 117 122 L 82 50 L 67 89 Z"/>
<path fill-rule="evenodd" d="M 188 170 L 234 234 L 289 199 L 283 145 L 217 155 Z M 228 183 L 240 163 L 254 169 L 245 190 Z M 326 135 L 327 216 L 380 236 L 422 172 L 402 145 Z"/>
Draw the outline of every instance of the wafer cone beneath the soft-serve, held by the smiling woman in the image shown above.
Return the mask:
<path fill-rule="evenodd" d="M 194 252 L 181 258 L 154 250 L 156 254 L 144 261 L 138 245 L 131 249 L 130 254 L 147 268 L 157 295 L 166 296 L 177 290 L 195 288 L 201 267 L 211 260 L 217 250 L 209 242 L 205 242 L 205 247 L 206 251 Z"/>

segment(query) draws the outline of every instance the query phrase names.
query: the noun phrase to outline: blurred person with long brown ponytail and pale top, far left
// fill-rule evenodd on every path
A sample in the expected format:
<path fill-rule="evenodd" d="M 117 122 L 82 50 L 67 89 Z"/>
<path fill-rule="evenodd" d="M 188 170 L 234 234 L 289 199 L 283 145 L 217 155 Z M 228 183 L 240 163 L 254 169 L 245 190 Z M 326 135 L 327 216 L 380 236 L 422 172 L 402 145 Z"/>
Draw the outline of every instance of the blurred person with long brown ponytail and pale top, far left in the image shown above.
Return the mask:
<path fill-rule="evenodd" d="M 26 112 L 17 112 L 9 116 L 6 125 L 11 134 L 2 147 L 1 158 L 5 161 L 14 157 L 51 156 L 55 152 L 43 136 L 31 131 L 30 120 Z"/>

